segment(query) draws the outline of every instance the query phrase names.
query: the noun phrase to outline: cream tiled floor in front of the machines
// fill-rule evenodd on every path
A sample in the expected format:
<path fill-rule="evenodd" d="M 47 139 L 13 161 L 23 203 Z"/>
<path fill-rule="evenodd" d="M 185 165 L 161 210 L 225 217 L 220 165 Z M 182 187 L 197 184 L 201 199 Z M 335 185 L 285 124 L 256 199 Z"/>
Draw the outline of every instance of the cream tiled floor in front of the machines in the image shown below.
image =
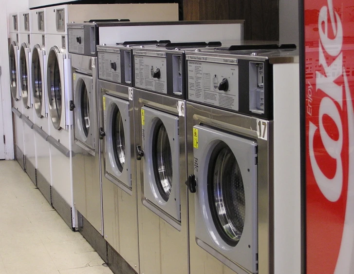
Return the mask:
<path fill-rule="evenodd" d="M 0 161 L 0 274 L 112 274 L 16 161 Z"/>

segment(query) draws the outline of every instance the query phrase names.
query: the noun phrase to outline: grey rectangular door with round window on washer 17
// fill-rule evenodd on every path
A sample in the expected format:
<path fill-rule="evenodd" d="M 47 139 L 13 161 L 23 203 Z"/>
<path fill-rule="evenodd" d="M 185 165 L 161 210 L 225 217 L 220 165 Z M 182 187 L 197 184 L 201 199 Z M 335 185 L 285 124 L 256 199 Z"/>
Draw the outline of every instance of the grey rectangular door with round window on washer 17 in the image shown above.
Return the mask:
<path fill-rule="evenodd" d="M 257 142 L 205 126 L 194 126 L 193 136 L 197 243 L 255 273 Z"/>

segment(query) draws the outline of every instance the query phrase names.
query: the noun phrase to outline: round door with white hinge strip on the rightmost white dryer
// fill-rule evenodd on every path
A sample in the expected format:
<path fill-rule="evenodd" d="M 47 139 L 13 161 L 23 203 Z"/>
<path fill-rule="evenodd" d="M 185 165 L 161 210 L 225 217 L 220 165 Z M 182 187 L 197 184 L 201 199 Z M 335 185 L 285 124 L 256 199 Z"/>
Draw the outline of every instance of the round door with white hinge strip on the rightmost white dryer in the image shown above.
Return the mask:
<path fill-rule="evenodd" d="M 47 62 L 48 106 L 55 129 L 65 128 L 65 88 L 63 54 L 57 47 L 52 47 Z"/>

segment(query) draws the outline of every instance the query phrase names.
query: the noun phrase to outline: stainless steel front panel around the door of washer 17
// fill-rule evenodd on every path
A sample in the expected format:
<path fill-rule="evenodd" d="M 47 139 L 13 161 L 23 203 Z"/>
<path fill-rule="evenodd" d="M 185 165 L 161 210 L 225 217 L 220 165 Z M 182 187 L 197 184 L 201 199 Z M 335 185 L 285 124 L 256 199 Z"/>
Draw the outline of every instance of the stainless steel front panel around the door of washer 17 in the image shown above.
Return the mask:
<path fill-rule="evenodd" d="M 274 269 L 270 263 L 273 258 L 272 235 L 272 209 L 273 209 L 273 185 L 272 170 L 273 159 L 273 122 L 268 123 L 268 141 L 258 138 L 257 119 L 231 112 L 218 110 L 212 107 L 202 106 L 187 102 L 187 160 L 188 174 L 193 174 L 193 126 L 198 124 L 208 125 L 230 133 L 251 137 L 258 144 L 258 264 L 259 274 L 272 274 Z M 197 224 L 195 223 L 194 194 L 189 194 L 189 243 L 190 243 L 190 273 L 199 274 L 200 269 L 205 269 L 205 274 L 235 274 L 227 265 L 229 260 L 222 256 L 213 256 L 215 249 L 208 253 L 196 243 L 195 236 Z M 209 247 L 210 248 L 210 247 Z M 225 258 L 225 257 L 224 257 Z M 220 259 L 220 260 L 219 260 Z"/>

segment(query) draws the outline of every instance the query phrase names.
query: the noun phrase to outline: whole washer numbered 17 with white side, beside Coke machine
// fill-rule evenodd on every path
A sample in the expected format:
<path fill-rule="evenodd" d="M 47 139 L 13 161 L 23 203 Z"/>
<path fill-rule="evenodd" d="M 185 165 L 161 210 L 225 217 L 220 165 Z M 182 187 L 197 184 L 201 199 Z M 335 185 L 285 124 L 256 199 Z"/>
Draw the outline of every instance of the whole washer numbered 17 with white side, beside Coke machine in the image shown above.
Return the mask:
<path fill-rule="evenodd" d="M 298 53 L 186 53 L 190 273 L 300 263 Z"/>

